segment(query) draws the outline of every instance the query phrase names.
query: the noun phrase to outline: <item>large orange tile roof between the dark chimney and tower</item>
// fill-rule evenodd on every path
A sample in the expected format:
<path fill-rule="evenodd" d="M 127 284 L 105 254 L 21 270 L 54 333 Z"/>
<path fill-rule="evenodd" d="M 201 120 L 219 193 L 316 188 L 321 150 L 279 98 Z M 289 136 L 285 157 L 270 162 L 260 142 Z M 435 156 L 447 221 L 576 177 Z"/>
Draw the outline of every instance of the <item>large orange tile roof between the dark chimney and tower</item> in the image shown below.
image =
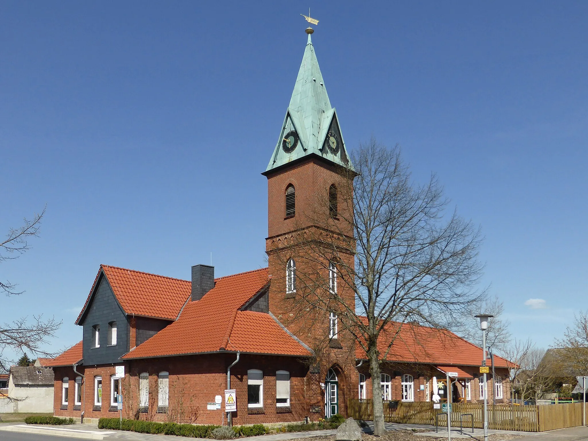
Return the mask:
<path fill-rule="evenodd" d="M 310 352 L 268 313 L 240 307 L 268 285 L 268 269 L 215 279 L 202 299 L 188 302 L 176 322 L 132 349 L 123 359 L 240 350 L 308 356 Z"/>

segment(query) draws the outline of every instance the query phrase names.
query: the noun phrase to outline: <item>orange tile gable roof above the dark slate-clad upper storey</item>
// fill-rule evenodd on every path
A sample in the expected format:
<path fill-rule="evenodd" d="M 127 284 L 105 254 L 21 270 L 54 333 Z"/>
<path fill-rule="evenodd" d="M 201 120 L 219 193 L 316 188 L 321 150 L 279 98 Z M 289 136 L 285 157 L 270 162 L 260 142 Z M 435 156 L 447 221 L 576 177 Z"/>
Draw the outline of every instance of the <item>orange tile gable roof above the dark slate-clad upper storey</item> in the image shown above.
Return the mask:
<path fill-rule="evenodd" d="M 101 274 L 108 280 L 126 314 L 175 320 L 192 294 L 192 282 L 189 280 L 100 265 L 86 303 L 76 319 L 78 325 L 91 302 Z"/>

